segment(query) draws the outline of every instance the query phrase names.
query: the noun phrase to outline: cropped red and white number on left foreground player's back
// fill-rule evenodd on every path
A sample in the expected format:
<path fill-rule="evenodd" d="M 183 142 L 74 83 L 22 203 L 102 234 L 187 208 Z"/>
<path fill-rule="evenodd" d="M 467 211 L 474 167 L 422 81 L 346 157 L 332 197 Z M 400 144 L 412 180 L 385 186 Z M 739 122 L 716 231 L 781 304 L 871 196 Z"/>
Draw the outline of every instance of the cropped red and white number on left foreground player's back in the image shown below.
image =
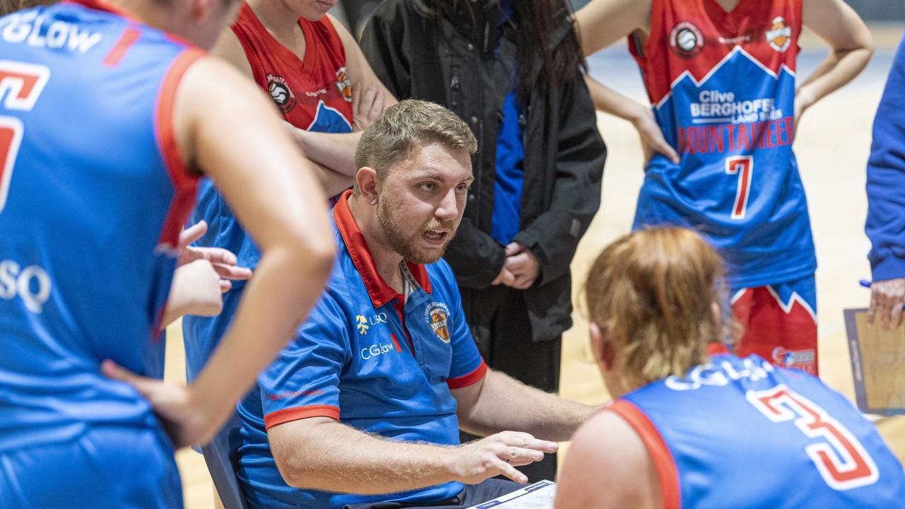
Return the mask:
<path fill-rule="evenodd" d="M 50 76 L 51 70 L 43 65 L 0 60 L 0 99 L 6 97 L 4 108 L 31 110 Z M 23 135 L 22 120 L 0 115 L 0 212 L 6 205 L 15 157 Z"/>

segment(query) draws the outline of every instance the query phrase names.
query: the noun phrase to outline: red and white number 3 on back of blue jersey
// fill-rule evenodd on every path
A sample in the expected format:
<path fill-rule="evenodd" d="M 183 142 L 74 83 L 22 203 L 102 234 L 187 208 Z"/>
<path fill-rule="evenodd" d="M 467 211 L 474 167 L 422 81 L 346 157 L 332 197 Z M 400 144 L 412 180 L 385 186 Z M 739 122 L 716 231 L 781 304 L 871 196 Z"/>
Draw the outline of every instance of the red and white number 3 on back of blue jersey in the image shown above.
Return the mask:
<path fill-rule="evenodd" d="M 793 420 L 806 437 L 819 438 L 805 446 L 805 454 L 814 462 L 826 485 L 843 491 L 877 482 L 880 472 L 861 442 L 813 401 L 786 385 L 749 390 L 746 398 L 771 421 Z"/>

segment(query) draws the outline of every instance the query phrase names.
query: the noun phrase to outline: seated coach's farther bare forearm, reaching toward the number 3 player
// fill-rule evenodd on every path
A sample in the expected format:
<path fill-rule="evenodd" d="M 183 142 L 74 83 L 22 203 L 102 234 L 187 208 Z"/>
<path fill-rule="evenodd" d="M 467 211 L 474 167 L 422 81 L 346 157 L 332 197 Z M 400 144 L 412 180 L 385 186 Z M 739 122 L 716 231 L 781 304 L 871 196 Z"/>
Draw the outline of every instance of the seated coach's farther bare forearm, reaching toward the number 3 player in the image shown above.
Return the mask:
<path fill-rule="evenodd" d="M 452 396 L 458 404 L 459 427 L 481 436 L 518 429 L 546 440 L 565 441 L 597 409 L 534 389 L 494 370 L 468 387 L 452 390 Z"/>

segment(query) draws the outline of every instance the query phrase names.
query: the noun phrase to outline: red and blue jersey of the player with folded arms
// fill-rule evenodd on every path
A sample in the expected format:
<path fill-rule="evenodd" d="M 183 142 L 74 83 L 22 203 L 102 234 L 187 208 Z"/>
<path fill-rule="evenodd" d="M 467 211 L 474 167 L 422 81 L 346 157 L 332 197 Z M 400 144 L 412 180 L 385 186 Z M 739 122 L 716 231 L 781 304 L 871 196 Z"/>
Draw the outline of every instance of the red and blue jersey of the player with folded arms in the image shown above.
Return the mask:
<path fill-rule="evenodd" d="M 346 72 L 346 50 L 328 16 L 312 22 L 299 18 L 305 35 L 305 54 L 300 59 L 278 43 L 243 3 L 233 24 L 233 34 L 242 43 L 252 67 L 254 81 L 280 109 L 284 120 L 302 130 L 344 133 L 352 130 L 352 92 Z M 239 225 L 233 211 L 209 180 L 202 181 L 192 222 L 204 219 L 207 234 L 197 244 L 229 249 L 241 266 L 254 268 L 261 253 Z M 186 370 L 189 379 L 201 370 L 214 346 L 223 337 L 242 297 L 244 282 L 233 282 L 224 295 L 223 312 L 214 318 L 186 317 Z"/>

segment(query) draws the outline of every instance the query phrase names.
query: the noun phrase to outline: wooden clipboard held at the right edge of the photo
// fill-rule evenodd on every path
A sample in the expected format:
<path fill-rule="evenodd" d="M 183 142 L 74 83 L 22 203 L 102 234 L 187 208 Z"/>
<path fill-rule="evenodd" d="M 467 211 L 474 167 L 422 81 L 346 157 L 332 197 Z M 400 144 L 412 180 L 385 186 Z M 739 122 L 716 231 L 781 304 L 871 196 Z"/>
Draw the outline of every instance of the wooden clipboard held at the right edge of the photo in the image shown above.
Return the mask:
<path fill-rule="evenodd" d="M 863 413 L 905 414 L 905 323 L 892 331 L 867 323 L 867 309 L 847 309 L 845 331 L 855 397 Z"/>

